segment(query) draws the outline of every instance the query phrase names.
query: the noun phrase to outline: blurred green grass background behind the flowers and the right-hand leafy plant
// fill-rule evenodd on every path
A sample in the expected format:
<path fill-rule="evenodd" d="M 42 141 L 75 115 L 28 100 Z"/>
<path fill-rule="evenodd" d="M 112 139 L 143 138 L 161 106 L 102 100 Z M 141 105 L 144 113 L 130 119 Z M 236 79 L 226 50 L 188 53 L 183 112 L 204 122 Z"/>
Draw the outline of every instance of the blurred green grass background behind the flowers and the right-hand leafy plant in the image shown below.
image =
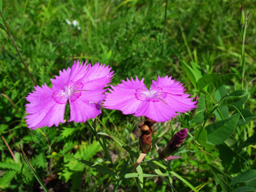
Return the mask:
<path fill-rule="evenodd" d="M 195 90 L 180 60 L 187 63 L 194 61 L 205 69 L 204 58 L 209 53 L 214 55 L 214 73 L 223 75 L 241 70 L 241 42 L 236 13 L 239 13 L 242 1 L 9 0 L 3 3 L 11 35 L 39 86 L 46 82 L 51 87 L 50 78 L 58 75 L 59 70 L 71 67 L 77 59 L 92 64 L 106 63 L 112 67 L 115 71 L 113 84 L 121 83 L 126 77 L 138 76 L 139 79 L 145 78 L 149 87 L 152 79 L 156 80 L 158 75 L 173 76 L 194 97 Z M 243 6 L 250 11 L 251 16 L 245 44 L 245 90 L 249 94 L 246 105 L 255 111 L 255 2 L 243 1 Z M 81 29 L 68 25 L 66 19 L 77 20 Z M 233 78 L 227 89 L 241 89 L 241 81 L 238 79 Z M 58 128 L 44 128 L 43 133 L 38 130 L 30 132 L 26 128 L 23 118 L 25 97 L 32 90 L 34 84 L 1 26 L 0 91 L 10 98 L 15 108 L 9 99 L 0 96 L 0 130 L 14 154 L 18 154 L 20 142 L 39 177 L 52 177 L 57 182 L 53 186 L 49 179 L 45 179 L 48 181 L 45 182 L 46 187 L 54 191 L 114 190 L 116 183 L 108 175 L 83 165 L 76 165 L 77 168 L 69 164 L 77 148 L 95 149 L 96 152 L 88 157 L 88 161 L 105 158 L 102 150 L 93 142 L 95 138 L 85 130 L 84 125 L 69 123 Z M 136 124 L 133 118 L 119 111 L 103 110 L 102 129 L 138 149 L 138 140 L 131 139 L 131 131 Z M 2 162 L 12 162 L 3 140 L 0 143 Z M 117 167 L 125 166 L 126 162 L 134 163 L 134 159 L 128 157 L 116 143 L 108 142 L 108 148 L 116 157 Z M 61 150 L 66 150 L 67 154 L 51 156 L 54 153 L 61 154 Z M 190 145 L 190 150 L 197 149 Z M 83 153 L 79 155 L 86 156 L 85 151 Z M 213 155 L 218 156 L 218 153 Z M 200 161 L 203 155 L 195 153 L 185 156 L 187 158 L 173 161 L 171 170 L 183 175 L 194 187 L 203 183 L 201 191 L 217 191 L 213 175 L 205 162 Z M 213 161 L 218 160 L 213 158 Z M 75 161 L 73 163 L 79 164 Z M 15 178 L 16 181 L 12 181 L 9 186 L 10 190 L 38 191 L 39 186 L 33 175 L 27 177 L 26 182 L 21 176 Z M 161 179 L 147 178 L 144 182 L 147 191 L 166 189 Z M 190 190 L 175 178 L 172 183 L 178 191 Z M 119 191 L 137 190 L 137 179 L 124 180 L 117 188 Z"/>

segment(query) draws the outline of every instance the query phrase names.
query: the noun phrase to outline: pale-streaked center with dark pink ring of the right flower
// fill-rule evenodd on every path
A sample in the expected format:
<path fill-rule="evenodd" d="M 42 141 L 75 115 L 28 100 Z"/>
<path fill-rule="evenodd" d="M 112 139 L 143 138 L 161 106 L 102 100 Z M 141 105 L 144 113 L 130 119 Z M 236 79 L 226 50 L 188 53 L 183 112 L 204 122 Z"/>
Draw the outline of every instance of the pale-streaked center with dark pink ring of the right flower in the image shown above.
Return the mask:
<path fill-rule="evenodd" d="M 166 98 L 166 93 L 162 92 L 161 87 L 150 87 L 148 90 L 147 87 L 140 87 L 136 90 L 135 98 L 141 101 L 152 101 L 158 102 Z"/>

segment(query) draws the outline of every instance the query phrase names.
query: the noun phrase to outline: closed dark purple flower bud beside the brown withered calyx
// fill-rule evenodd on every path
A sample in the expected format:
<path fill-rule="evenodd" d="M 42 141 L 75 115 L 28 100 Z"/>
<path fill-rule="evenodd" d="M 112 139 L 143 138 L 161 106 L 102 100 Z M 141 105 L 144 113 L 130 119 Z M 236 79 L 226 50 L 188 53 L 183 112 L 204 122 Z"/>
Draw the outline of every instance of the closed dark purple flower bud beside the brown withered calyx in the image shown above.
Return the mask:
<path fill-rule="evenodd" d="M 182 129 L 176 134 L 174 134 L 172 139 L 167 144 L 167 146 L 162 150 L 162 153 L 159 154 L 159 158 L 166 159 L 167 157 L 172 155 L 174 151 L 177 150 L 182 144 L 182 142 L 186 139 L 187 134 L 187 129 Z"/>

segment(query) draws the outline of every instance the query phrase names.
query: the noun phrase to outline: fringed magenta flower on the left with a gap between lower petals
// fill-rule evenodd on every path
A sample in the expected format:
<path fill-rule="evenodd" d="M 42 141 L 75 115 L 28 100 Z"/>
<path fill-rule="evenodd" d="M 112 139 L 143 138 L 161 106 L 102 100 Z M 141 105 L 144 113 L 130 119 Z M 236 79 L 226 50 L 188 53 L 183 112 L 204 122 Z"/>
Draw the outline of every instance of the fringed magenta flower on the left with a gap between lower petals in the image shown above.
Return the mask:
<path fill-rule="evenodd" d="M 100 103 L 105 99 L 103 90 L 114 76 L 111 68 L 96 63 L 81 65 L 79 61 L 74 63 L 71 69 L 60 70 L 60 75 L 51 79 L 52 88 L 46 84 L 36 86 L 33 93 L 26 97 L 25 106 L 27 115 L 26 122 L 31 130 L 38 127 L 49 127 L 53 124 L 65 123 L 64 113 L 67 101 L 70 105 L 69 122 L 86 122 L 87 119 L 95 118 L 101 113 Z"/>

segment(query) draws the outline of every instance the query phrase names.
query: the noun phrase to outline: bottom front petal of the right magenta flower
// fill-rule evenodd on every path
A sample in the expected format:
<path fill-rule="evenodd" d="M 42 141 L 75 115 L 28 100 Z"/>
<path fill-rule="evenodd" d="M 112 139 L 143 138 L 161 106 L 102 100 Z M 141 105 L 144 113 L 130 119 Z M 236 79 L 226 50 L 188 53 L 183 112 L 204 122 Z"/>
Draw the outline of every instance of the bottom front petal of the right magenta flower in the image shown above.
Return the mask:
<path fill-rule="evenodd" d="M 175 117 L 176 115 L 178 114 L 161 100 L 156 102 L 144 101 L 134 114 L 136 117 L 146 116 L 156 122 L 169 121 L 171 117 Z"/>

